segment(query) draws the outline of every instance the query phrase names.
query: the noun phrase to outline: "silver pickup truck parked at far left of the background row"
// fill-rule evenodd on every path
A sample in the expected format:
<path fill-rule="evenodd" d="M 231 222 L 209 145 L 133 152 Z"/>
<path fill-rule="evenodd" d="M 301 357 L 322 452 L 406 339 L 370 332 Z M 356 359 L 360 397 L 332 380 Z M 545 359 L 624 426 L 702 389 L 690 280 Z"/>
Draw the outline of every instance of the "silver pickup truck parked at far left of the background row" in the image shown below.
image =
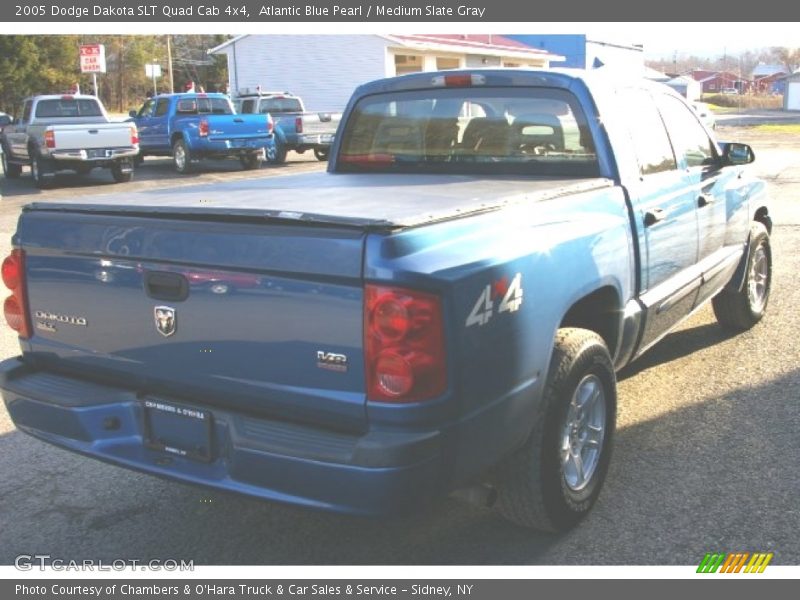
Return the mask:
<path fill-rule="evenodd" d="M 110 122 L 94 96 L 50 95 L 25 100 L 22 118 L 3 129 L 3 171 L 17 178 L 30 166 L 37 187 L 51 185 L 57 171 L 81 175 L 107 167 L 117 182 L 130 181 L 139 136 L 133 123 Z"/>

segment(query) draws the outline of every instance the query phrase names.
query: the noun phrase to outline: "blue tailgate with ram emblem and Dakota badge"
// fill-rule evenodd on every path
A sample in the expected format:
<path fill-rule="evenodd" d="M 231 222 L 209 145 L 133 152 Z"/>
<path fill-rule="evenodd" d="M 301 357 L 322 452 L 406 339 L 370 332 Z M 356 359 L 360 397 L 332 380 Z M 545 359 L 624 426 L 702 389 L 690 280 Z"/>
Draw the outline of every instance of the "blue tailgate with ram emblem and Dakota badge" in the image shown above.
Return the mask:
<path fill-rule="evenodd" d="M 26 210 L 18 231 L 33 360 L 212 410 L 364 426 L 362 231 L 63 210 Z"/>

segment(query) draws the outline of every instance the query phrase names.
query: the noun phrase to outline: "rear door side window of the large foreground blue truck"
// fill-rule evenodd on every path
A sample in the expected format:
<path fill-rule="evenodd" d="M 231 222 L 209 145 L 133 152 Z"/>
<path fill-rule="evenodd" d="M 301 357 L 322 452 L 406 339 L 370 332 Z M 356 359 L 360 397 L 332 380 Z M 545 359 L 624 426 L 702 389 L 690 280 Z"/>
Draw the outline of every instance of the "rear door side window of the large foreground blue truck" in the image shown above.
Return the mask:
<path fill-rule="evenodd" d="M 642 175 L 652 175 L 678 168 L 664 121 L 650 94 L 644 90 L 620 90 L 628 128 L 639 160 Z"/>

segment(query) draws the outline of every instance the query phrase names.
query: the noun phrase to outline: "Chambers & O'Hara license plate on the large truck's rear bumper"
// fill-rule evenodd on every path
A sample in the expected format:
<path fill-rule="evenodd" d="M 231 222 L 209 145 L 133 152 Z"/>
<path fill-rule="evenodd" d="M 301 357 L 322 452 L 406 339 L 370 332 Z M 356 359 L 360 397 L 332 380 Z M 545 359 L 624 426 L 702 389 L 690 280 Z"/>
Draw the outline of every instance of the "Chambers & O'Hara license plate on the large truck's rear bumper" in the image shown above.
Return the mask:
<path fill-rule="evenodd" d="M 213 414 L 211 411 L 145 398 L 143 443 L 150 450 L 209 463 L 213 460 Z"/>

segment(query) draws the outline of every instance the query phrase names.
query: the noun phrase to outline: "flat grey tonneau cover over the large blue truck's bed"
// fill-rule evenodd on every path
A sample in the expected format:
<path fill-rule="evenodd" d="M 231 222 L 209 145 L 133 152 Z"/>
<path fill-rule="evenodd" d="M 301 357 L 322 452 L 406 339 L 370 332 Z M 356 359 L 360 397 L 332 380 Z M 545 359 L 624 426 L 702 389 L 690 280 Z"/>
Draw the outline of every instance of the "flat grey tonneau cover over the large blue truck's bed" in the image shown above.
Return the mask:
<path fill-rule="evenodd" d="M 186 218 L 250 217 L 397 229 L 611 185 L 613 182 L 604 178 L 308 173 L 34 203 L 30 208 Z M 520 193 L 520 189 L 526 191 Z"/>

